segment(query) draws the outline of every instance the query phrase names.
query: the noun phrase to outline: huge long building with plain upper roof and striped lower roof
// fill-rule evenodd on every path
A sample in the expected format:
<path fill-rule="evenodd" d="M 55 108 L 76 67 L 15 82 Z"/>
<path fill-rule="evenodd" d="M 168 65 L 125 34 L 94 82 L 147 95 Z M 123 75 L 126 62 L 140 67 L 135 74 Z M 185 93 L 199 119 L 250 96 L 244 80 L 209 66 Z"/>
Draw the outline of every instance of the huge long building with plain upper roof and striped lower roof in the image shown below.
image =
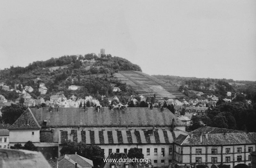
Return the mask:
<path fill-rule="evenodd" d="M 32 141 L 45 158 L 57 157 L 67 140 L 100 146 L 105 158 L 137 147 L 160 167 L 172 162 L 172 142 L 188 134 L 185 127 L 167 108 L 28 108 L 9 127 L 10 146 Z"/>

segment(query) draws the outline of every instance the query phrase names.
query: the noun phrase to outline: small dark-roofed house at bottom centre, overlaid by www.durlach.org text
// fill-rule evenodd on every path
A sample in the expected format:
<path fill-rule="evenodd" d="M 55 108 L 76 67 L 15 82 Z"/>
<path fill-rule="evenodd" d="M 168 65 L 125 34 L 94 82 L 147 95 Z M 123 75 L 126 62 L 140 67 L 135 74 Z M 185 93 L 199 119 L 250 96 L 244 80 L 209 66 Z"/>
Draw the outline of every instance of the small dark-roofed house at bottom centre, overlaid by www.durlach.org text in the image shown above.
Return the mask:
<path fill-rule="evenodd" d="M 109 154 L 109 156 L 108 156 L 108 158 L 107 159 L 112 159 L 112 160 L 114 160 L 114 159 L 116 159 L 116 162 L 104 162 L 104 164 L 101 166 L 102 168 L 118 168 L 118 167 L 120 167 L 120 168 L 134 168 L 133 166 L 132 166 L 132 164 L 134 164 L 134 163 L 130 163 L 130 162 L 128 162 L 128 157 L 127 157 L 127 155 L 126 155 L 127 153 L 110 153 Z M 122 162 L 119 162 L 118 160 L 119 159 L 122 159 L 122 160 L 124 160 L 124 161 L 122 161 Z M 127 160 L 125 160 L 125 159 L 127 159 Z"/>

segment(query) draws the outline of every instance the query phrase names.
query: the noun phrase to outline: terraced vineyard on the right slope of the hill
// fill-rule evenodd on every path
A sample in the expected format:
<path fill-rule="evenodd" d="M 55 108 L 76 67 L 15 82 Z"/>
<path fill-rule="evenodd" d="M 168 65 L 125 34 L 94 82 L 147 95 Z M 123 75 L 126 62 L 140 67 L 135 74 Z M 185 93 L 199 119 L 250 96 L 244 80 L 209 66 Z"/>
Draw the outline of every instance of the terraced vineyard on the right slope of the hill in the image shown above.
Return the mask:
<path fill-rule="evenodd" d="M 139 95 L 154 96 L 157 99 L 186 97 L 178 88 L 140 71 L 119 71 L 114 77 L 130 85 Z"/>

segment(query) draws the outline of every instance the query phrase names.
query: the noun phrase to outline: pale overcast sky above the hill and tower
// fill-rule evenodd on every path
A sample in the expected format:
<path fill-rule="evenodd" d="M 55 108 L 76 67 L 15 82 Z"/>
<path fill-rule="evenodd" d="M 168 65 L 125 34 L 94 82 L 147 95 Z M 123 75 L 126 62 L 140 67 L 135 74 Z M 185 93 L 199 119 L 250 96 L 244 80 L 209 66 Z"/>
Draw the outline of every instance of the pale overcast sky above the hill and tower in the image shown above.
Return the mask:
<path fill-rule="evenodd" d="M 256 1 L 0 0 L 0 69 L 100 48 L 149 75 L 256 81 Z"/>

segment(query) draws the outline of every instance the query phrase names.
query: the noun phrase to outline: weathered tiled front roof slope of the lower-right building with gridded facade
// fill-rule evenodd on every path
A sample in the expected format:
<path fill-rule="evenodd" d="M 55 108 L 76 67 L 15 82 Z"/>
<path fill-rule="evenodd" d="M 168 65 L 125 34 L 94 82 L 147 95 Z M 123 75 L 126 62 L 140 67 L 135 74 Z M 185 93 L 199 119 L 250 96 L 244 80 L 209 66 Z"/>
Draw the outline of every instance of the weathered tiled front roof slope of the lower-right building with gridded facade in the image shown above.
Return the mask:
<path fill-rule="evenodd" d="M 189 134 L 183 141 L 177 138 L 180 145 L 232 145 L 255 144 L 256 133 L 224 133 L 224 134 Z"/>

